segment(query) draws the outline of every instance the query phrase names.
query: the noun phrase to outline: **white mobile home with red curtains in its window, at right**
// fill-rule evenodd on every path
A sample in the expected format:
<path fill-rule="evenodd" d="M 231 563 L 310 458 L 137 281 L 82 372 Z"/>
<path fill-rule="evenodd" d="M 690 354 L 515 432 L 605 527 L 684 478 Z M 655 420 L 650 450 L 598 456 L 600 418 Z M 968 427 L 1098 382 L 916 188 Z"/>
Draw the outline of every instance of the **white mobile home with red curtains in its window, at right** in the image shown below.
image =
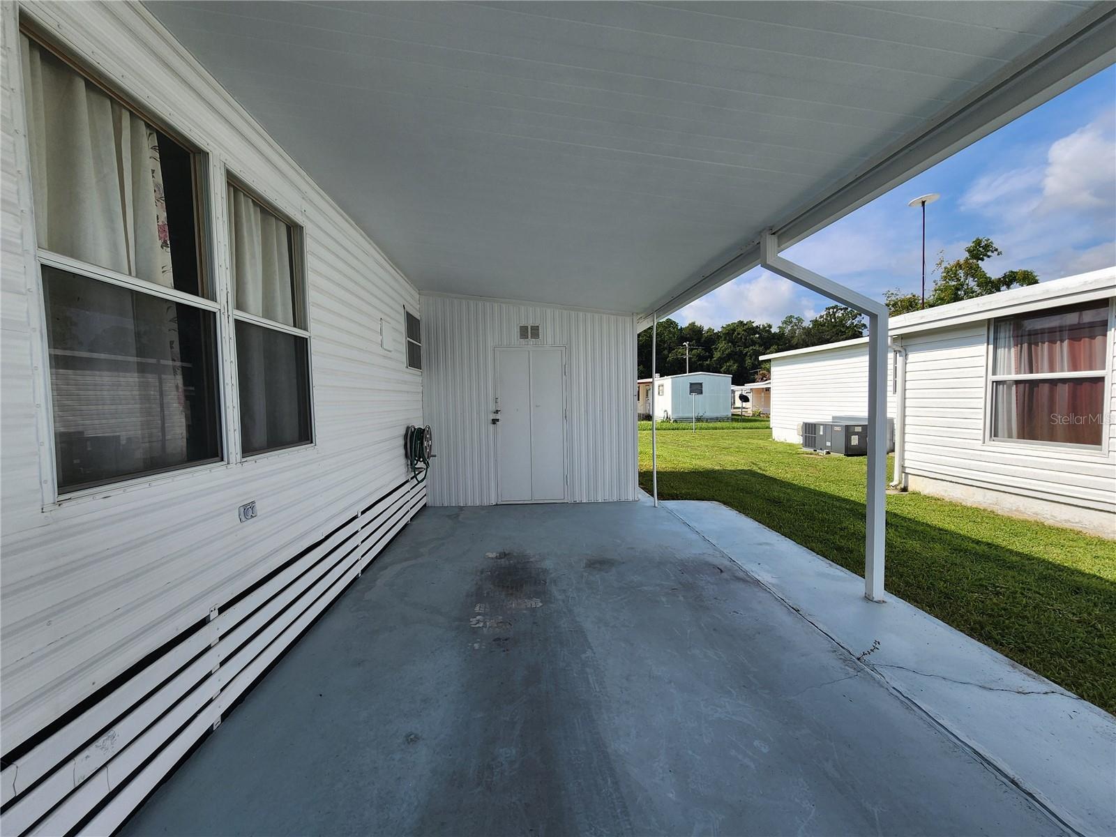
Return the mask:
<path fill-rule="evenodd" d="M 1116 535 L 1114 296 L 1109 268 L 893 318 L 896 482 Z M 769 358 L 775 439 L 864 414 L 865 340 Z"/>

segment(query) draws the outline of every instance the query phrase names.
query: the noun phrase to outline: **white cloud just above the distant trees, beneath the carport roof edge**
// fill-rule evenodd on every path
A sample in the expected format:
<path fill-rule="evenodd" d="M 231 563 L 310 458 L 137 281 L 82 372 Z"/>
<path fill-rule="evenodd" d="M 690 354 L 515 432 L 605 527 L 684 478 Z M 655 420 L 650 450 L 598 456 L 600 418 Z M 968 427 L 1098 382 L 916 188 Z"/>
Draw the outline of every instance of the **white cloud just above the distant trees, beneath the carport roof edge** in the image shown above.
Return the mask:
<path fill-rule="evenodd" d="M 779 325 L 788 314 L 806 319 L 820 307 L 814 295 L 767 270 L 752 270 L 671 315 L 679 323 L 720 328 L 738 319 Z"/>

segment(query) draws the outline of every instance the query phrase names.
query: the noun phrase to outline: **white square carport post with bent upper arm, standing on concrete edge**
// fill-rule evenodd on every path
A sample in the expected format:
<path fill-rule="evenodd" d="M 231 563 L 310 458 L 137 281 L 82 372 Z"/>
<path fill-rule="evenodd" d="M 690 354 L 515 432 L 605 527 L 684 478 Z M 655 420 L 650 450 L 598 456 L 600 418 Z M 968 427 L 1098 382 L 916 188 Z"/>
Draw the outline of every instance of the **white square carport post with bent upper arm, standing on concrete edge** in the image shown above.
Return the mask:
<path fill-rule="evenodd" d="M 868 318 L 868 491 L 864 548 L 864 595 L 884 600 L 884 519 L 887 501 L 887 308 L 852 288 L 779 256 L 779 241 L 760 237 L 760 264 L 785 279 L 835 299 Z"/>

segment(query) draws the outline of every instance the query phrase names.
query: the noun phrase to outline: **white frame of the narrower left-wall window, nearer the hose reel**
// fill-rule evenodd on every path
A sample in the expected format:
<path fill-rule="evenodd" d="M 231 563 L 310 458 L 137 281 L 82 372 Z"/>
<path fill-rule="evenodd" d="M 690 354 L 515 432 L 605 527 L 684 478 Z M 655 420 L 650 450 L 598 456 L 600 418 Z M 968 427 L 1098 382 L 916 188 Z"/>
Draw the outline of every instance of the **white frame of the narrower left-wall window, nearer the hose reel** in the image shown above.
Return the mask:
<path fill-rule="evenodd" d="M 277 323 L 276 320 L 270 320 L 266 317 L 259 317 L 254 314 L 237 309 L 235 278 L 232 276 L 232 260 L 230 258 L 230 254 L 232 253 L 232 240 L 229 233 L 229 217 L 231 208 L 228 205 L 228 186 L 239 189 L 291 229 L 291 268 L 294 270 L 292 281 L 295 283 L 292 289 L 295 298 L 295 321 L 306 324 L 307 328 L 288 326 L 285 323 Z M 228 161 L 224 161 L 222 165 L 220 200 L 221 206 L 224 210 L 222 213 L 223 218 L 220 223 L 223 224 L 222 235 L 224 237 L 224 247 L 222 248 L 222 254 L 225 259 L 225 273 L 228 276 L 228 282 L 225 283 L 225 299 L 228 306 L 227 316 L 229 318 L 229 356 L 231 358 L 229 375 L 230 386 L 233 393 L 231 398 L 232 415 L 229 421 L 229 432 L 234 440 L 232 444 L 234 462 L 248 464 L 276 456 L 290 456 L 306 453 L 308 451 L 315 451 L 318 446 L 318 432 L 317 413 L 314 406 L 314 338 L 309 329 L 310 283 L 306 261 L 306 224 L 296 220 L 299 213 L 285 209 L 279 200 L 263 193 L 263 191 L 256 185 L 254 179 L 241 174 Z M 238 366 L 237 358 L 237 323 L 248 323 L 306 339 L 306 397 L 308 401 L 307 408 L 309 410 L 310 423 L 310 439 L 308 441 L 297 442 L 281 448 L 269 448 L 268 450 L 257 451 L 254 453 L 244 453 L 244 443 L 240 429 L 240 367 Z"/>

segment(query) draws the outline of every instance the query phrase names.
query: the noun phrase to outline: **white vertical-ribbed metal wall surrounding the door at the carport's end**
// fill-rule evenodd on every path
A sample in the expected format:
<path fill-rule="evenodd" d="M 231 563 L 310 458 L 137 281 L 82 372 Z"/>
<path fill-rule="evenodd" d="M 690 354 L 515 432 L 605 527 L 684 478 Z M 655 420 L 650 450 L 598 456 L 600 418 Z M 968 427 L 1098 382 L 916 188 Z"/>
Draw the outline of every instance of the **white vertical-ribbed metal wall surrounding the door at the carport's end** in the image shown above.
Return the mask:
<path fill-rule="evenodd" d="M 494 350 L 525 345 L 566 346 L 570 501 L 636 498 L 632 317 L 441 296 L 424 296 L 422 310 L 432 504 L 497 501 Z M 538 325 L 540 339 L 519 340 L 520 325 Z"/>

